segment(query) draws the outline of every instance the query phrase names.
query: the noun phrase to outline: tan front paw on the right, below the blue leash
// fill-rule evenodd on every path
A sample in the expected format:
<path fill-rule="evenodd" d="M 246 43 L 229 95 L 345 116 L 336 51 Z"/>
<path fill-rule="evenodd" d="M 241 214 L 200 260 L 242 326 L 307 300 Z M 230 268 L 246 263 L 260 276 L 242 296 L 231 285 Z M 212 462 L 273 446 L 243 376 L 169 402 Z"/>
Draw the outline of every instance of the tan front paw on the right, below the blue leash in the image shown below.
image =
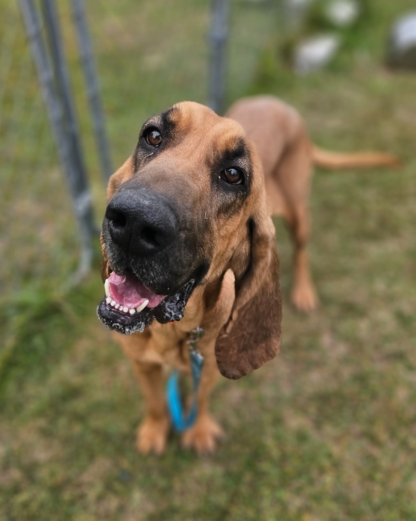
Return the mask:
<path fill-rule="evenodd" d="M 222 428 L 211 418 L 204 414 L 199 416 L 196 424 L 184 432 L 182 445 L 186 449 L 194 449 L 198 454 L 214 452 L 217 441 L 224 437 Z"/>

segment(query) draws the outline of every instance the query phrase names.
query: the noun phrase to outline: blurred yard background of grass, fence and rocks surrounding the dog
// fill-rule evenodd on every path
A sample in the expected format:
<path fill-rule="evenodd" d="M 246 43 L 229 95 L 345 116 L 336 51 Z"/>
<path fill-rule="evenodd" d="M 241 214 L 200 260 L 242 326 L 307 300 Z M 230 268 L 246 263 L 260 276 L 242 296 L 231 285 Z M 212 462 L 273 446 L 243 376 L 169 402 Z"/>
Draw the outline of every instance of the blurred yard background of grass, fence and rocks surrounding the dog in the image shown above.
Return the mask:
<path fill-rule="evenodd" d="M 2 519 L 416 519 L 416 29 L 397 26 L 412 9 L 0 0 Z M 51 52 L 34 61 L 38 36 Z M 315 172 L 319 309 L 291 308 L 276 220 L 280 355 L 220 381 L 227 438 L 213 456 L 173 436 L 143 457 L 140 393 L 95 312 L 106 181 L 152 114 L 182 100 L 222 113 L 261 93 L 293 104 L 319 146 L 402 166 Z"/>

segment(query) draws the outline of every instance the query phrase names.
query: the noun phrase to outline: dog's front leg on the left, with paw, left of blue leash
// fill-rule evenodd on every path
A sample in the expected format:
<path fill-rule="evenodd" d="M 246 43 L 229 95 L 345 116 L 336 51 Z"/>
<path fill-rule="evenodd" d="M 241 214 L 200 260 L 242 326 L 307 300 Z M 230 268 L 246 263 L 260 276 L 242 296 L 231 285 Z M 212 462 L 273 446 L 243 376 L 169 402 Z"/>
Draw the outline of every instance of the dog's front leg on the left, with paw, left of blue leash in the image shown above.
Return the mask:
<path fill-rule="evenodd" d="M 146 404 L 146 417 L 137 429 L 137 449 L 143 454 L 161 454 L 170 430 L 162 366 L 136 361 L 133 366 Z"/>

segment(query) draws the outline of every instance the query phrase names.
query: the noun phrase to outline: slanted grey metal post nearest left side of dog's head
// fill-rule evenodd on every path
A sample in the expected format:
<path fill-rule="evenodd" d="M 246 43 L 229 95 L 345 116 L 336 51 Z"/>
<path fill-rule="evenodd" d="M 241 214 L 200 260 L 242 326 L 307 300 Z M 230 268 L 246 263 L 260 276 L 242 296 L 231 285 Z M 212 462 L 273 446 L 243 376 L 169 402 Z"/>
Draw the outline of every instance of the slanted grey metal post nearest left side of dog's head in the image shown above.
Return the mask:
<path fill-rule="evenodd" d="M 89 38 L 88 26 L 85 19 L 83 0 L 71 0 L 72 17 L 74 20 L 78 47 L 83 66 L 88 103 L 92 114 L 95 130 L 97 151 L 101 162 L 102 174 L 106 181 L 113 173 L 110 159 L 110 147 L 107 140 L 106 128 L 102 117 L 102 105 L 99 93 L 97 73 L 94 65 L 93 49 Z"/>

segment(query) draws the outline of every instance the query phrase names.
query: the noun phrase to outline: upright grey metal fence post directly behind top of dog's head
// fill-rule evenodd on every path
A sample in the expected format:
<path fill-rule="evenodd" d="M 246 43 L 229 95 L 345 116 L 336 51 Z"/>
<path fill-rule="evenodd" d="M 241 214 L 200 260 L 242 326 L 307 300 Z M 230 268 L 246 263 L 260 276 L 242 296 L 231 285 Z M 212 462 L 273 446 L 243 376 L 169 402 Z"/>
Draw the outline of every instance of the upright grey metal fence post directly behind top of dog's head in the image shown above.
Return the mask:
<path fill-rule="evenodd" d="M 218 114 L 224 105 L 229 10 L 229 0 L 212 0 L 209 34 L 211 64 L 208 105 Z"/>

